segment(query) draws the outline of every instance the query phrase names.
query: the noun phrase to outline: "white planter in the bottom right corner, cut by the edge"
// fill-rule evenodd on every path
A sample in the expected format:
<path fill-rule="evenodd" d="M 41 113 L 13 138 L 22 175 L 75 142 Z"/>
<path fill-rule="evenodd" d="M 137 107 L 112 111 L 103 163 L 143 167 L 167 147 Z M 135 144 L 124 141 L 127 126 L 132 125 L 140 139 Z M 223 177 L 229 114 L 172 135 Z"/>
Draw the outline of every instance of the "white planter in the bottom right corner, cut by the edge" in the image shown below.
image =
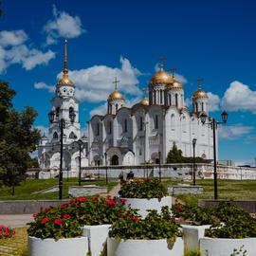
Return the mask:
<path fill-rule="evenodd" d="M 243 239 L 204 237 L 199 242 L 203 256 L 230 256 L 233 249 L 247 250 L 247 256 L 256 255 L 256 237 Z M 242 254 L 241 254 L 242 255 Z"/>

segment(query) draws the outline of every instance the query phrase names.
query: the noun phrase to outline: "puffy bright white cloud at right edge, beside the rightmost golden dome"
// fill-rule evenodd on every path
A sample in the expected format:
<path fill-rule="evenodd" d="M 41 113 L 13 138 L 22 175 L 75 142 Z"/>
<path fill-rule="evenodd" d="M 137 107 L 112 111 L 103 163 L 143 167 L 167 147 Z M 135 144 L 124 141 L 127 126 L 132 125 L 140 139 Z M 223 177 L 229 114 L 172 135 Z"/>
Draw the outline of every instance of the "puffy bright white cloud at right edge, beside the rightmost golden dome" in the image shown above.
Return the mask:
<path fill-rule="evenodd" d="M 242 82 L 231 82 L 222 99 L 222 105 L 227 111 L 244 110 L 256 114 L 256 91 L 250 90 Z"/>

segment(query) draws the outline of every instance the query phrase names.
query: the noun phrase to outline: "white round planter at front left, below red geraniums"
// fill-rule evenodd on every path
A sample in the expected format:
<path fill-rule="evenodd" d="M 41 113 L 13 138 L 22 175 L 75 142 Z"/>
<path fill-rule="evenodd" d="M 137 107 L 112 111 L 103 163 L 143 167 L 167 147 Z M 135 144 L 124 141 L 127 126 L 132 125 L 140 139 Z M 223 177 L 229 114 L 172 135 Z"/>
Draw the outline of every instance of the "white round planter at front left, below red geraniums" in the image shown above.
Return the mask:
<path fill-rule="evenodd" d="M 28 256 L 85 256 L 87 252 L 87 237 L 54 240 L 28 236 Z"/>

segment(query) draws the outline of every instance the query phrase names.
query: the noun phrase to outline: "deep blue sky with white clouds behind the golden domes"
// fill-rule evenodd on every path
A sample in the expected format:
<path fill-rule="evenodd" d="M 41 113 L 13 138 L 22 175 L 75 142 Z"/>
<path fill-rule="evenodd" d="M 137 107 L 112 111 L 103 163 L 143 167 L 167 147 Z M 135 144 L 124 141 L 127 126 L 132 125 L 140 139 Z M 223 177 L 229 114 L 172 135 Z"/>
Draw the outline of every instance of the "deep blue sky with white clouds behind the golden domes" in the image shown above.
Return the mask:
<path fill-rule="evenodd" d="M 33 106 L 46 127 L 50 91 L 68 68 L 81 100 L 80 119 L 102 113 L 115 75 L 127 104 L 142 96 L 159 55 L 178 66 L 189 102 L 202 76 L 210 115 L 229 122 L 220 130 L 221 159 L 252 164 L 256 156 L 256 16 L 254 1 L 15 1 L 4 0 L 0 18 L 0 76 Z"/>

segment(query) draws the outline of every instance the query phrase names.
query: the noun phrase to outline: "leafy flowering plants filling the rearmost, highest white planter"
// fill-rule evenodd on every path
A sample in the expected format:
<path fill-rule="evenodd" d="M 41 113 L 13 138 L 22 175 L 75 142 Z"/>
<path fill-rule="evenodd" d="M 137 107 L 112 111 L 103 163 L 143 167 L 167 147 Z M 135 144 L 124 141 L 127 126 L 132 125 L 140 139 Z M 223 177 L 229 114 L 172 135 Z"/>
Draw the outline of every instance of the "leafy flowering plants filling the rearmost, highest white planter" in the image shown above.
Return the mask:
<path fill-rule="evenodd" d="M 159 179 L 137 179 L 122 184 L 119 195 L 123 198 L 162 198 L 167 195 L 167 189 Z"/>

